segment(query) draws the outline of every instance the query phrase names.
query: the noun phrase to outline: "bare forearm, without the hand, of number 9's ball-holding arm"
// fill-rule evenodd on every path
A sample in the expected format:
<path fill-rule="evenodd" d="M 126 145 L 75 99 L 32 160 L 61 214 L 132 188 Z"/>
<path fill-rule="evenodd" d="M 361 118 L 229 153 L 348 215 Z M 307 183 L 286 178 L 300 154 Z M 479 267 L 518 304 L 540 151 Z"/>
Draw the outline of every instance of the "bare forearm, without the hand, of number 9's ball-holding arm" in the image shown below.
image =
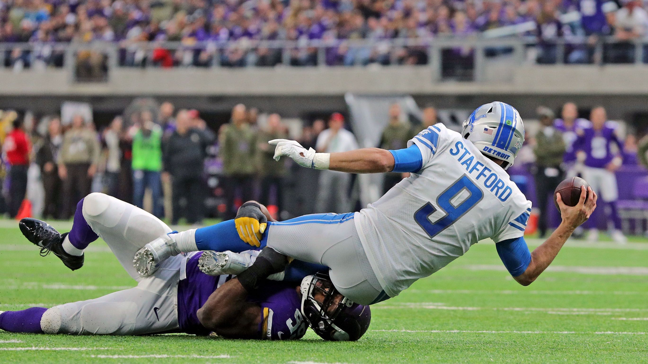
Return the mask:
<path fill-rule="evenodd" d="M 553 231 L 549 239 L 531 252 L 531 263 L 522 275 L 515 277 L 515 280 L 523 286 L 528 286 L 537 279 L 540 273 L 547 269 L 553 262 L 558 252 L 561 251 L 564 243 L 572 236 L 574 228 L 562 222 L 558 228 Z"/>

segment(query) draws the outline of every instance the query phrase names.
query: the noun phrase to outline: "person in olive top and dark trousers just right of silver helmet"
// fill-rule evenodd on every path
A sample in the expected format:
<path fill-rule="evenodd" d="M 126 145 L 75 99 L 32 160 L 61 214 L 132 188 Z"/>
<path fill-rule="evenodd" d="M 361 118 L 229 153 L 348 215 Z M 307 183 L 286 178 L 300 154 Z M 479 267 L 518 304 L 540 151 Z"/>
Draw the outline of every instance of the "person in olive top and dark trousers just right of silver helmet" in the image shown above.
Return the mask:
<path fill-rule="evenodd" d="M 562 181 L 562 155 L 565 153 L 565 144 L 561 133 L 553 126 L 553 111 L 548 107 L 538 107 L 540 129 L 533 139 L 533 153 L 536 159 L 535 191 L 540 209 L 538 222 L 539 237 L 547 234 L 549 215 L 547 202 L 549 194 L 555 191 Z M 553 204 L 551 204 L 553 206 Z"/>

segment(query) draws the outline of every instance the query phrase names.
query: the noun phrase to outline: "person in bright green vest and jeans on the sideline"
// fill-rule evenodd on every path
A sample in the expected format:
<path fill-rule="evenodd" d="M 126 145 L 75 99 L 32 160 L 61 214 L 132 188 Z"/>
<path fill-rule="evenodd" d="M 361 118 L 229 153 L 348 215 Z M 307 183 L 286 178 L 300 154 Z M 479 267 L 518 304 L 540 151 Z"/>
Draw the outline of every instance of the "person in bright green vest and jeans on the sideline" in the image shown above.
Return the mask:
<path fill-rule="evenodd" d="M 144 191 L 151 189 L 153 215 L 164 216 L 162 182 L 162 129 L 153 122 L 150 111 L 144 111 L 131 131 L 133 137 L 133 204 L 143 208 Z"/>

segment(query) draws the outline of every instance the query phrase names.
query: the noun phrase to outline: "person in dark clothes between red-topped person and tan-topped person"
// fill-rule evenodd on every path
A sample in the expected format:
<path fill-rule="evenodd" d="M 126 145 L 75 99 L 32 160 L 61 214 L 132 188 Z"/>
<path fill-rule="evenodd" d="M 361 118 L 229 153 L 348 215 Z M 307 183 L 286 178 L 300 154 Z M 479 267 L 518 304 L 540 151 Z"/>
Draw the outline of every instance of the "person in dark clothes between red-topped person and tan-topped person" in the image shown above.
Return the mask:
<path fill-rule="evenodd" d="M 61 120 L 52 118 L 47 125 L 47 135 L 43 138 L 38 152 L 36 152 L 36 164 L 41 170 L 41 180 L 45 190 L 45 201 L 43 219 L 59 219 L 61 207 L 61 178 L 58 177 L 58 153 L 63 144 L 61 134 Z"/>

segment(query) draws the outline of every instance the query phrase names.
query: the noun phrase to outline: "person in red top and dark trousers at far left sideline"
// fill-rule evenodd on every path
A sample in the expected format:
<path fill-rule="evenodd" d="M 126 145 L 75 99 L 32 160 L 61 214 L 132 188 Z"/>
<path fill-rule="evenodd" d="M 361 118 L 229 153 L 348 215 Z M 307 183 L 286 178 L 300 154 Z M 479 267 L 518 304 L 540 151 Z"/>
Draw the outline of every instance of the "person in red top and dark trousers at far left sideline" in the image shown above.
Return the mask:
<path fill-rule="evenodd" d="M 29 136 L 23 130 L 23 122 L 14 120 L 14 129 L 5 138 L 6 159 L 9 162 L 9 203 L 8 212 L 14 218 L 27 192 L 27 169 L 31 145 Z"/>

